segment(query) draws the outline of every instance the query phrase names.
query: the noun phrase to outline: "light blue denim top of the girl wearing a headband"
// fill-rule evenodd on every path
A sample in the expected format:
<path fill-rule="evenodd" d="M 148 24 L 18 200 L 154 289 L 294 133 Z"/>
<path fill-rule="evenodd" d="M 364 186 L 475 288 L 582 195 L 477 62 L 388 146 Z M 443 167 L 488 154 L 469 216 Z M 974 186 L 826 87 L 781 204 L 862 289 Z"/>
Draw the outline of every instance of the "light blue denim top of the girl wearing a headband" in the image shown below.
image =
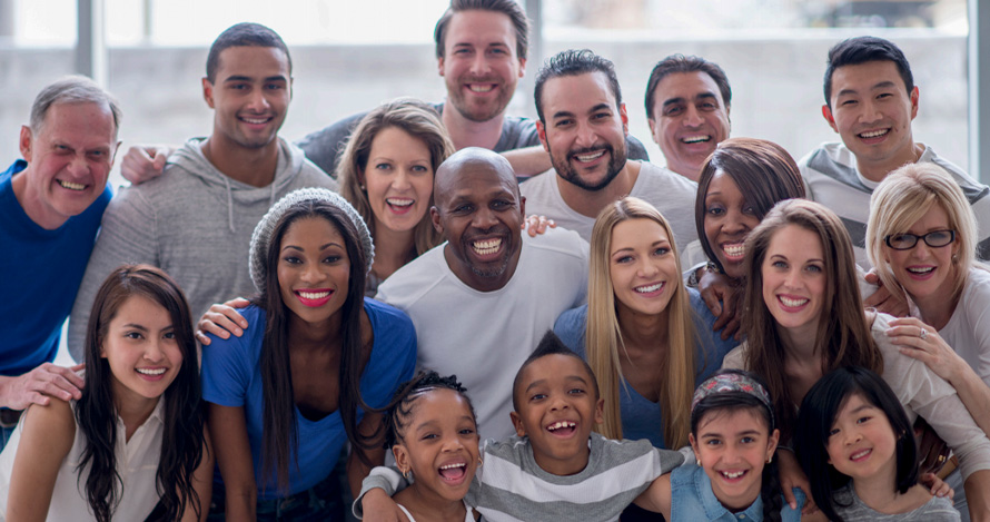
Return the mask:
<path fill-rule="evenodd" d="M 798 509 L 792 510 L 781 500 L 781 521 L 798 522 L 801 520 L 801 508 L 804 505 L 804 492 L 794 487 Z M 712 522 L 739 522 L 763 520 L 763 498 L 743 511 L 733 513 L 725 509 L 715 493 L 712 481 L 704 469 L 694 464 L 685 464 L 671 472 L 671 520 L 709 520 Z"/>

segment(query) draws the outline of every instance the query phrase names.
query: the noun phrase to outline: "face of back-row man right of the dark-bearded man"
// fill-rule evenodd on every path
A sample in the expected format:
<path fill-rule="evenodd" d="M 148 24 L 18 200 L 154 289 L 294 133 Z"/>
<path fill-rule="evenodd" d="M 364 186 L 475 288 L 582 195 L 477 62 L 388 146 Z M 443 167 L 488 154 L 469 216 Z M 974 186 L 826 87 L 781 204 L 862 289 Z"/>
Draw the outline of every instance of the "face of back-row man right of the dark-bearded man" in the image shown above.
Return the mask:
<path fill-rule="evenodd" d="M 657 83 L 649 122 L 667 168 L 697 181 L 705 158 L 729 138 L 729 106 L 706 72 L 674 72 Z"/>

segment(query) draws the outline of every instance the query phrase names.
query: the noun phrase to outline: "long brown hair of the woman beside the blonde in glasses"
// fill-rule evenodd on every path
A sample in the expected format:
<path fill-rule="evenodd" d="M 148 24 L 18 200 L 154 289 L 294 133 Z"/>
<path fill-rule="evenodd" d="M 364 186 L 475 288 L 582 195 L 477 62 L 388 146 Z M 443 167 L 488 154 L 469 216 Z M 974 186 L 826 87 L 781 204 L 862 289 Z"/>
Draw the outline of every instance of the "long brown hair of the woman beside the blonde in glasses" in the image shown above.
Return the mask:
<path fill-rule="evenodd" d="M 789 357 L 776 321 L 763 301 L 763 262 L 773 236 L 786 226 L 815 234 L 822 244 L 825 295 L 814 354 L 821 357 L 822 374 L 840 366 L 862 366 L 883 372 L 883 356 L 867 324 L 857 283 L 852 242 L 839 217 L 824 206 L 804 199 L 779 203 L 746 238 L 746 285 L 743 329 L 746 333 L 746 368 L 766 382 L 776 415 L 788 440 L 793 433 L 800 401 L 791 394 L 784 368 Z"/>

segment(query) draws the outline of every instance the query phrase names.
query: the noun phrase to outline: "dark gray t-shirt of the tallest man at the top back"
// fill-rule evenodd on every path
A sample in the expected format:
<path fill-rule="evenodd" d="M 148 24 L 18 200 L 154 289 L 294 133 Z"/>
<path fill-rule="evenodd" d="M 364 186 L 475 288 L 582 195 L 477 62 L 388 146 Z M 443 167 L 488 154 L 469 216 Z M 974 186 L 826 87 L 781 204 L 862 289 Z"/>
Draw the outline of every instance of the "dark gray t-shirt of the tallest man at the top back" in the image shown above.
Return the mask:
<path fill-rule="evenodd" d="M 433 106 L 438 114 L 444 112 L 444 104 L 435 104 Z M 325 127 L 303 138 L 298 146 L 306 152 L 306 157 L 315 162 L 319 168 L 324 169 L 333 177 L 337 177 L 337 156 L 347 145 L 350 138 L 350 131 L 357 127 L 362 118 L 367 116 L 368 111 L 358 112 L 348 116 L 336 124 Z M 502 136 L 492 150 L 496 152 L 505 152 L 506 150 L 515 150 L 524 147 L 539 145 L 539 136 L 536 132 L 536 121 L 529 118 L 521 118 L 518 116 L 506 116 L 502 120 Z M 649 160 L 646 148 L 636 138 L 632 136 L 626 139 L 630 159 Z"/>

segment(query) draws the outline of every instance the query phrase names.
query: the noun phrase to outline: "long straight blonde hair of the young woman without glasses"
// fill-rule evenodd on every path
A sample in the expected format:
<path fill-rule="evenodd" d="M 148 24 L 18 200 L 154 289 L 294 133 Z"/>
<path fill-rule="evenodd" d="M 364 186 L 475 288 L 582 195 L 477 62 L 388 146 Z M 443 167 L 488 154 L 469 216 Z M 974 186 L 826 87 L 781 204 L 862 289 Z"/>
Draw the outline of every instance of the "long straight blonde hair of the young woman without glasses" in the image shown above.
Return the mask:
<path fill-rule="evenodd" d="M 624 352 L 622 328 L 616 314 L 615 292 L 611 277 L 612 233 L 615 226 L 630 219 L 650 219 L 663 227 L 671 239 L 671 255 L 681 273 L 674 234 L 667 220 L 649 203 L 622 198 L 605 207 L 592 230 L 588 288 L 587 331 L 585 347 L 587 363 L 598 380 L 602 398 L 605 400 L 604 422 L 595 431 L 608 439 L 622 439 L 622 413 L 618 405 L 618 384 L 623 380 L 621 352 Z M 667 282 L 673 285 L 667 309 L 667 364 L 660 394 L 663 413 L 663 437 L 667 447 L 687 444 L 691 424 L 691 397 L 694 394 L 695 345 L 697 337 L 687 297 L 687 289 L 680 277 Z M 660 344 L 662 339 L 657 339 Z"/>

